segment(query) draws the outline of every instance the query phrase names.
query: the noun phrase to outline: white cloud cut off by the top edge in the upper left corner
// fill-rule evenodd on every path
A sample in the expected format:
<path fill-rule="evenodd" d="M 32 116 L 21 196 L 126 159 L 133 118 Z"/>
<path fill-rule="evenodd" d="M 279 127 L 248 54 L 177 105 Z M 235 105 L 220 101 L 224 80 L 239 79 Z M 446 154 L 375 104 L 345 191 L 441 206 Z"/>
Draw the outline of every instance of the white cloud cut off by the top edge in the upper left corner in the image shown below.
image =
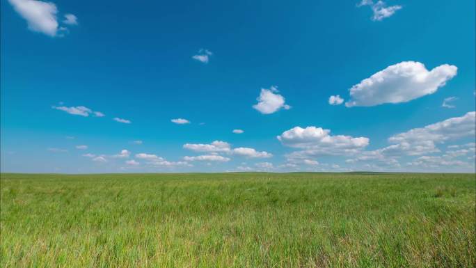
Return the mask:
<path fill-rule="evenodd" d="M 35 0 L 8 0 L 15 11 L 26 19 L 31 31 L 45 33 L 47 36 L 56 36 L 58 22 L 56 13 L 58 9 L 51 2 Z"/>

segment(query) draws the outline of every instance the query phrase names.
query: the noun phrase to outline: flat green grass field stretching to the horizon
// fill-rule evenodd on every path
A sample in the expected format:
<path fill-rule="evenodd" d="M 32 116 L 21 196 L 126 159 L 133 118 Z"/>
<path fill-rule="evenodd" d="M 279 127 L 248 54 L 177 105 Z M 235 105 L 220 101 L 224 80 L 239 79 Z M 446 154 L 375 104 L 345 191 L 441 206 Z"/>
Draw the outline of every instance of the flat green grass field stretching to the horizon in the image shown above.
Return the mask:
<path fill-rule="evenodd" d="M 1 267 L 476 267 L 475 174 L 1 174 Z"/>

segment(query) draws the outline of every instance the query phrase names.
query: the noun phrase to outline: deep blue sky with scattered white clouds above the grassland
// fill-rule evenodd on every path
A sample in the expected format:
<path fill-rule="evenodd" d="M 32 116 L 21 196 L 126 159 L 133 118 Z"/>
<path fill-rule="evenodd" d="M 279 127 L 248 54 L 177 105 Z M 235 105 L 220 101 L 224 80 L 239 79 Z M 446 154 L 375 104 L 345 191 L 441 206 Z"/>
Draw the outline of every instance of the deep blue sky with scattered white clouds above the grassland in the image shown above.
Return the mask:
<path fill-rule="evenodd" d="M 475 172 L 474 22 L 471 0 L 1 1 L 1 170 Z"/>

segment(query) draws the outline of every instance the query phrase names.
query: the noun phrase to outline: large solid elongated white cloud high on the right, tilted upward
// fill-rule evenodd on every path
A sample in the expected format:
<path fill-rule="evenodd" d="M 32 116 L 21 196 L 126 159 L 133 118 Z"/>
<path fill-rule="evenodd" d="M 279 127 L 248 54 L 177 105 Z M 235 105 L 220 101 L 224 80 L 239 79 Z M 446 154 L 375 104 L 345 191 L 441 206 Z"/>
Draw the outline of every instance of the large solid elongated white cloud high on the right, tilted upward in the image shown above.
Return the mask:
<path fill-rule="evenodd" d="M 400 103 L 433 94 L 457 74 L 454 65 L 443 64 L 431 71 L 415 61 L 404 61 L 363 79 L 350 89 L 347 107 L 370 107 L 384 103 Z"/>

